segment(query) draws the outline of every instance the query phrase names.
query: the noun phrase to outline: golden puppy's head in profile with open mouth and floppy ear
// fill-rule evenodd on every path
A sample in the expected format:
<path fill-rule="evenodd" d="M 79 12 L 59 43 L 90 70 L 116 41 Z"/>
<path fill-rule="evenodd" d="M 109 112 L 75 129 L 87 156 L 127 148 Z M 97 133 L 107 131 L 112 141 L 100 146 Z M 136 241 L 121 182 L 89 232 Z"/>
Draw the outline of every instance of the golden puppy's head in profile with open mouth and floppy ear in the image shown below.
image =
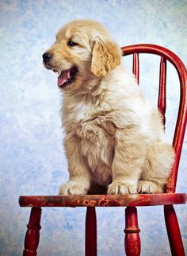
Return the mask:
<path fill-rule="evenodd" d="M 70 91 L 106 76 L 120 64 L 121 52 L 100 23 L 76 20 L 59 29 L 43 60 L 46 68 L 59 73 L 59 87 Z"/>

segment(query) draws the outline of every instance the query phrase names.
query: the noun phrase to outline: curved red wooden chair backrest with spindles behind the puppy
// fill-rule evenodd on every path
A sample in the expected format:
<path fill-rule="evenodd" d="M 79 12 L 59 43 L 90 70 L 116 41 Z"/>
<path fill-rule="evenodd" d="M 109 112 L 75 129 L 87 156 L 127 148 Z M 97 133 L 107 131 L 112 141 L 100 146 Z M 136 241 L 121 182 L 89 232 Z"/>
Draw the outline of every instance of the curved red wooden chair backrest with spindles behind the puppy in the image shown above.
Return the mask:
<path fill-rule="evenodd" d="M 187 70 L 179 57 L 167 48 L 158 45 L 129 45 L 121 48 L 123 55 L 133 54 L 132 72 L 139 83 L 139 53 L 151 53 L 161 56 L 159 72 L 158 109 L 162 113 L 163 124 L 166 118 L 166 61 L 170 61 L 177 70 L 180 82 L 180 103 L 177 114 L 177 122 L 174 131 L 173 146 L 175 150 L 174 165 L 168 179 L 166 192 L 175 192 L 177 184 L 178 165 L 181 157 L 181 148 L 185 136 L 185 126 L 187 122 Z"/>

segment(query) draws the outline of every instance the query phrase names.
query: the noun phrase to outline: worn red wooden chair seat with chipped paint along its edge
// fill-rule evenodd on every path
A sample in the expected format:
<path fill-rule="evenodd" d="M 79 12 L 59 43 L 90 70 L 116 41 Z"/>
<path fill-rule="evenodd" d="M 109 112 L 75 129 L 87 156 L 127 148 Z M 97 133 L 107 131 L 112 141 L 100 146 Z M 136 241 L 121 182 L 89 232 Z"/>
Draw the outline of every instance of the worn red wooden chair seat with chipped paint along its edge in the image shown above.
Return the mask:
<path fill-rule="evenodd" d="M 75 196 L 20 196 L 21 207 L 135 207 L 185 204 L 185 193 L 75 195 Z"/>

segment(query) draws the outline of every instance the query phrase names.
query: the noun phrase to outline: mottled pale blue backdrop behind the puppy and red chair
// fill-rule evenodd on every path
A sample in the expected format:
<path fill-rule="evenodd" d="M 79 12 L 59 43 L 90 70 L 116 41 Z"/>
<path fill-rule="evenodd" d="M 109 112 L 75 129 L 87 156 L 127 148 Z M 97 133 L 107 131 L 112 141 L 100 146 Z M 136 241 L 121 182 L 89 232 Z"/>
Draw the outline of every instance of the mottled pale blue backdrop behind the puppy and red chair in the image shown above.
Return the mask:
<path fill-rule="evenodd" d="M 0 255 L 20 256 L 29 209 L 19 195 L 55 195 L 67 180 L 67 161 L 59 117 L 61 95 L 56 76 L 44 69 L 41 56 L 55 33 L 74 18 L 101 21 L 120 45 L 153 43 L 170 48 L 187 61 L 186 0 L 0 1 Z M 124 60 L 130 68 L 128 60 Z M 141 59 L 143 93 L 157 97 L 157 58 Z M 168 66 L 167 138 L 176 119 L 177 74 Z M 144 77 L 144 78 L 143 78 Z M 177 191 L 186 192 L 187 144 L 181 155 Z M 176 206 L 187 246 L 185 206 Z M 139 208 L 142 255 L 170 255 L 161 207 Z M 38 255 L 81 256 L 84 208 L 43 210 Z M 124 255 L 124 209 L 98 208 L 98 255 Z"/>

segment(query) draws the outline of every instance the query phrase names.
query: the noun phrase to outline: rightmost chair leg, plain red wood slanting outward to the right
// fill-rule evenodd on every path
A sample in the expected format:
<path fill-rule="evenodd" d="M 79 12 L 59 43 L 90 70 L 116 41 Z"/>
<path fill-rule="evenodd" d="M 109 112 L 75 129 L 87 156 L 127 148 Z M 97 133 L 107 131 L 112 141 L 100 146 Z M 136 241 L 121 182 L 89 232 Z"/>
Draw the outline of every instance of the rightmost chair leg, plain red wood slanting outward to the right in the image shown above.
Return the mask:
<path fill-rule="evenodd" d="M 164 206 L 164 216 L 171 254 L 173 256 L 185 256 L 185 250 L 181 239 L 181 231 L 173 205 Z"/>

